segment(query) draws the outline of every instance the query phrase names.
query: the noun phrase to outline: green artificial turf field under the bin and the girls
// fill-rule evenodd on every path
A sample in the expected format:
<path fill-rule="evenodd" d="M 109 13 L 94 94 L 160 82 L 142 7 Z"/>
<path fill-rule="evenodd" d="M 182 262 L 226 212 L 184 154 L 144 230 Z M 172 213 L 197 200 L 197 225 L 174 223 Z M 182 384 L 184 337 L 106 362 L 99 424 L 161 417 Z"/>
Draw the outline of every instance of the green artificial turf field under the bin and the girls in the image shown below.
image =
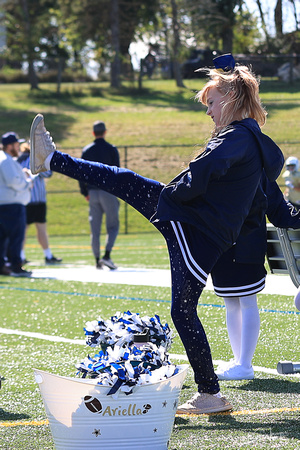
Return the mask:
<path fill-rule="evenodd" d="M 55 255 L 68 265 L 93 263 L 87 236 L 51 237 L 51 243 Z M 168 268 L 167 251 L 156 232 L 119 235 L 113 256 L 125 267 Z M 29 268 L 43 267 L 42 251 L 34 238 L 27 242 L 27 258 Z M 169 288 L 1 277 L 0 296 L 1 327 L 8 330 L 84 339 L 86 321 L 127 310 L 159 314 L 172 327 Z M 259 305 L 261 334 L 254 365 L 274 369 L 279 360 L 299 360 L 299 313 L 292 297 L 260 294 Z M 213 359 L 231 358 L 222 300 L 212 292 L 204 293 L 199 315 Z M 1 333 L 0 339 L 0 448 L 54 449 L 33 368 L 75 376 L 74 364 L 96 351 L 18 334 Z M 178 337 L 170 353 L 184 355 Z M 263 372 L 255 375 L 253 381 L 221 382 L 223 394 L 234 405 L 231 414 L 176 417 L 169 450 L 300 448 L 299 378 Z M 190 371 L 181 400 L 192 393 Z"/>

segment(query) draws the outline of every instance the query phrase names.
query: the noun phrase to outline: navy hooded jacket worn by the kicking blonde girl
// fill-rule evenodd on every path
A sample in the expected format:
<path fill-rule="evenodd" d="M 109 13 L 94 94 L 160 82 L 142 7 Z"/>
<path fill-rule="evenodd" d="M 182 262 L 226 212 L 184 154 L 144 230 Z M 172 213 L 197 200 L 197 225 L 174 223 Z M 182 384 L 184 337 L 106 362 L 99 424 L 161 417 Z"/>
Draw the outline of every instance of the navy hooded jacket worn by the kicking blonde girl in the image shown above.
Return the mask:
<path fill-rule="evenodd" d="M 245 232 L 259 226 L 267 209 L 262 171 L 275 181 L 283 164 L 281 150 L 255 120 L 233 122 L 164 187 L 152 221 L 194 225 L 225 251 L 244 222 Z"/>

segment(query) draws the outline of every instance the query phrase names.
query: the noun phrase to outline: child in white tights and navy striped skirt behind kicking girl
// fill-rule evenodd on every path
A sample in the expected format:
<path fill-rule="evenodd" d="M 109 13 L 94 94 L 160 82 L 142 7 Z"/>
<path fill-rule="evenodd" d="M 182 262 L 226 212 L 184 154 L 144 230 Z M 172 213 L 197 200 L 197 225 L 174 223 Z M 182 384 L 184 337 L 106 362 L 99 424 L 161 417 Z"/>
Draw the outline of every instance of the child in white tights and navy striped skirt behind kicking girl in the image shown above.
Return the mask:
<path fill-rule="evenodd" d="M 266 215 L 279 228 L 300 228 L 300 211 L 287 203 L 276 182 L 262 178 L 268 199 Z M 220 380 L 252 380 L 252 358 L 256 349 L 260 317 L 257 293 L 265 287 L 267 251 L 266 219 L 247 236 L 239 236 L 211 271 L 216 295 L 223 297 L 226 324 L 234 359 L 216 370 Z"/>

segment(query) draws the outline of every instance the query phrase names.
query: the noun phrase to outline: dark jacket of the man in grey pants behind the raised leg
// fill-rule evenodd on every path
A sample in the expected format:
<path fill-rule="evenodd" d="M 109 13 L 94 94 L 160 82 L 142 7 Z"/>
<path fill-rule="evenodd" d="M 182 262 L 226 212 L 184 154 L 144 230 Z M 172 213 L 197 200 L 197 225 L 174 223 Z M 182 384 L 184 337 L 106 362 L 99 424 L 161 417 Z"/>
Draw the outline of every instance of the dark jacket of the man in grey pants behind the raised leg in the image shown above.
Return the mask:
<path fill-rule="evenodd" d="M 120 156 L 117 147 L 109 144 L 104 138 L 97 138 L 82 150 L 82 159 L 100 162 L 109 166 L 120 167 Z M 80 192 L 85 197 L 90 189 L 99 189 L 82 181 L 79 182 Z"/>

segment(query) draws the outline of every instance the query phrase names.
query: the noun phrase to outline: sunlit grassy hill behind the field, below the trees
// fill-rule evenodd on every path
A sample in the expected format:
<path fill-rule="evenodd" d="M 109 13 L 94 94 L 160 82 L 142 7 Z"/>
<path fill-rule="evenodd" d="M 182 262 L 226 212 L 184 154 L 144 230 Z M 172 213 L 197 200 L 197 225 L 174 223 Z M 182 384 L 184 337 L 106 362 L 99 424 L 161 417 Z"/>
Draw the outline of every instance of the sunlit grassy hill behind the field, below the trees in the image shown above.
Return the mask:
<path fill-rule="evenodd" d="M 194 100 L 203 84 L 199 79 L 185 80 L 186 88 L 179 89 L 172 80 L 146 80 L 142 90 L 127 84 L 119 91 L 104 82 L 64 84 L 60 95 L 54 84 L 41 84 L 34 92 L 28 85 L 2 84 L 0 132 L 14 130 L 28 138 L 31 121 L 41 112 L 57 147 L 80 156 L 82 147 L 93 140 L 93 122 L 103 120 L 107 140 L 118 146 L 123 166 L 168 182 L 200 151 L 212 130 L 206 108 Z M 300 83 L 263 79 L 261 98 L 268 111 L 263 131 L 285 157 L 300 156 Z M 78 183 L 54 174 L 48 191 L 49 233 L 88 234 L 88 205 Z M 152 230 L 123 204 L 120 214 L 121 232 L 125 217 L 129 232 Z"/>

